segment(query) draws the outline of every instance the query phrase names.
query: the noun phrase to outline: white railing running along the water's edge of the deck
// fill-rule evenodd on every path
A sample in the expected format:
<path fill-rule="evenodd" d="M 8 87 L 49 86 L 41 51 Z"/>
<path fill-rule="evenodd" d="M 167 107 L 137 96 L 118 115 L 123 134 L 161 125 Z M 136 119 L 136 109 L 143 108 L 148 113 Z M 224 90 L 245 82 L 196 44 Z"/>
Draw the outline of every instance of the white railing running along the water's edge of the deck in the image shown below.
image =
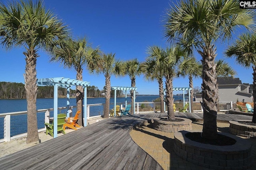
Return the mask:
<path fill-rule="evenodd" d="M 174 102 L 176 104 L 176 112 L 178 112 L 178 107 L 177 106 L 183 106 L 182 104 L 178 105 L 178 102 Z M 114 104 L 110 104 L 113 106 Z M 120 105 L 122 108 L 121 103 L 117 103 L 117 105 Z M 94 111 L 94 115 L 96 116 L 90 116 L 90 108 L 94 106 L 102 106 L 102 110 L 97 110 L 98 115 L 96 115 Z M 87 105 L 87 119 L 88 118 L 96 118 L 102 116 L 103 110 L 104 110 L 105 104 L 88 104 Z M 72 110 L 76 108 L 76 106 L 70 106 L 71 114 L 72 116 Z M 193 102 L 193 108 L 194 112 L 202 112 L 202 106 L 200 102 Z M 227 111 L 230 108 L 233 108 L 233 102 L 230 101 L 224 101 L 224 102 L 219 102 L 219 108 L 220 111 Z M 110 108 L 111 109 L 111 108 Z M 50 122 L 50 112 L 53 112 L 54 109 L 40 109 L 37 110 L 37 114 L 44 113 L 44 122 Z M 58 112 L 66 113 L 67 108 L 66 107 L 60 107 L 58 108 Z M 155 113 L 155 112 L 160 112 L 160 102 L 135 102 L 135 114 L 140 114 L 140 113 Z M 166 109 L 167 112 L 167 109 Z M 9 113 L 1 113 L 0 118 L 4 118 L 4 138 L 0 139 L 1 142 L 9 142 L 12 139 L 20 138 L 27 136 L 27 133 L 22 133 L 18 135 L 11 136 L 11 116 L 18 116 L 18 115 L 24 115 L 27 114 L 27 111 L 21 111 L 21 112 L 9 112 Z M 0 125 L 2 126 L 2 125 Z M 38 129 L 38 132 L 42 132 L 46 130 L 46 128 Z"/>

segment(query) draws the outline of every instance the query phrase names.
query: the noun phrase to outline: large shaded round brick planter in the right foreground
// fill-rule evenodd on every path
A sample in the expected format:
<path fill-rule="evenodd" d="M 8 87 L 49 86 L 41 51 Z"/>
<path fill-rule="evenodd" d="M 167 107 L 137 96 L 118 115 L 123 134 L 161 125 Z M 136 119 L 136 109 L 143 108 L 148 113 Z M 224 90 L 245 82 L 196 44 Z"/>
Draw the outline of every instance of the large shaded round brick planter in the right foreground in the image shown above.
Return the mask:
<path fill-rule="evenodd" d="M 252 166 L 252 143 L 232 134 L 223 133 L 236 140 L 234 145 L 215 146 L 201 144 L 186 138 L 188 132 L 196 130 L 180 131 L 174 133 L 174 152 L 196 165 L 217 170 L 244 170 Z"/>

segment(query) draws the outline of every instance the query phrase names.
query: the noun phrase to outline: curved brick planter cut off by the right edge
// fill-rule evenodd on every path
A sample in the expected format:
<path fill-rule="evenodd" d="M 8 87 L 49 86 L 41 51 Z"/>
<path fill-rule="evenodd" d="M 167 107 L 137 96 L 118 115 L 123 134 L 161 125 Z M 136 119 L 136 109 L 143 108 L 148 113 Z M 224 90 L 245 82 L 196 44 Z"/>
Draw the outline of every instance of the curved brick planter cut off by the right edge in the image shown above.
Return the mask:
<path fill-rule="evenodd" d="M 252 122 L 252 120 L 230 120 L 229 131 L 231 134 L 246 138 L 256 137 L 256 126 L 241 124 L 238 122 Z"/>

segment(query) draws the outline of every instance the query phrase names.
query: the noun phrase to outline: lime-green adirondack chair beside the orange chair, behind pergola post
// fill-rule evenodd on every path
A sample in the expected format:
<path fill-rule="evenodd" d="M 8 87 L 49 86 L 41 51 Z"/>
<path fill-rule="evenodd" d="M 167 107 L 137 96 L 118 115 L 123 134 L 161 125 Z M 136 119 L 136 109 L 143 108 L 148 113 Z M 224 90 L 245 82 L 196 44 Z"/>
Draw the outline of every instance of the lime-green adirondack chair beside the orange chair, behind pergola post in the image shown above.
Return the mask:
<path fill-rule="evenodd" d="M 58 114 L 58 122 L 57 122 L 57 131 L 62 131 L 63 134 L 66 134 L 64 129 L 63 129 L 63 125 L 66 123 L 65 122 L 65 119 L 66 119 L 66 114 Z M 53 137 L 53 124 L 54 122 L 52 122 L 52 124 L 50 123 L 44 123 L 45 126 L 46 126 L 46 135 L 49 134 Z"/>

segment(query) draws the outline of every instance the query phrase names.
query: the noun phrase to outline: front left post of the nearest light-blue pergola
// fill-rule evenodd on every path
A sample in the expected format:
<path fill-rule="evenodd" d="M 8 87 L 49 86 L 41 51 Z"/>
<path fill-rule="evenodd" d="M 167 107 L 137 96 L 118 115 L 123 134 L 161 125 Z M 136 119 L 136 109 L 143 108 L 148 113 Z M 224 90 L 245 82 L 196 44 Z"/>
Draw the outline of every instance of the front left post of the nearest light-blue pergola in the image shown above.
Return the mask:
<path fill-rule="evenodd" d="M 53 138 L 57 138 L 58 126 L 58 84 L 54 84 L 54 104 L 53 104 Z"/>

